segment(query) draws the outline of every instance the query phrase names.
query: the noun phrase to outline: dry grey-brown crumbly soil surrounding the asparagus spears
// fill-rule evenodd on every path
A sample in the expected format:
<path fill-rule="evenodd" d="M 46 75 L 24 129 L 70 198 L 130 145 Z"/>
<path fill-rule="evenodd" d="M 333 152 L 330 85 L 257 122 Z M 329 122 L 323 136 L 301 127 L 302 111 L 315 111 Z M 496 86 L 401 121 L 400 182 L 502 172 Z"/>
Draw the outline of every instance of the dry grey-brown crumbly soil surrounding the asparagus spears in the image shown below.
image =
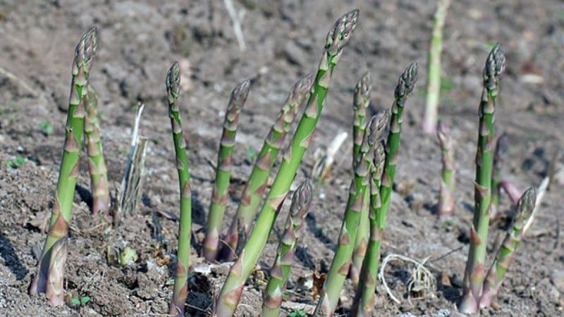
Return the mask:
<path fill-rule="evenodd" d="M 452 127 L 457 146 L 455 216 L 438 223 L 434 206 L 441 152 L 436 137 L 424 135 L 424 78 L 434 1 L 233 1 L 243 20 L 246 51 L 239 49 L 223 1 L 1 1 L 0 0 L 0 315 L 4 316 L 152 316 L 168 310 L 178 182 L 174 170 L 164 76 L 180 62 L 183 126 L 191 165 L 195 242 L 187 316 L 206 316 L 228 266 L 209 266 L 197 258 L 202 226 L 212 195 L 214 161 L 228 95 L 237 82 L 252 78 L 252 91 L 240 117 L 233 156 L 232 195 L 227 219 L 235 210 L 252 168 L 249 149 L 262 144 L 278 107 L 293 82 L 314 72 L 327 30 L 341 14 L 360 8 L 360 24 L 337 66 L 324 113 L 297 180 L 310 175 L 314 151 L 338 132 L 349 132 L 355 82 L 373 78 L 370 111 L 388 108 L 398 75 L 419 63 L 419 84 L 407 101 L 395 192 L 388 216 L 383 256 L 401 254 L 427 261 L 441 281 L 432 297 L 407 301 L 412 266 L 391 262 L 386 281 L 396 304 L 379 284 L 374 316 L 455 315 L 469 243 L 473 209 L 477 105 L 484 60 L 491 43 L 501 42 L 507 71 L 496 107 L 496 134 L 506 132 L 510 151 L 506 178 L 520 189 L 538 185 L 558 147 L 564 143 L 564 4 L 541 1 L 453 1 L 448 11 L 443 51 L 441 119 Z M 73 49 L 90 26 L 99 30 L 99 50 L 90 75 L 100 97 L 102 142 L 111 187 L 125 166 L 135 105 L 146 105 L 140 133 L 149 138 L 142 201 L 133 215 L 104 230 L 90 214 L 90 180 L 82 155 L 75 194 L 66 267 L 68 304 L 51 307 L 44 296 L 30 297 L 35 251 L 45 239 L 63 144 Z M 14 75 L 14 76 L 11 76 Z M 49 127 L 52 131 L 49 130 Z M 283 314 L 311 312 L 312 276 L 331 263 L 351 175 L 350 136 L 336 157 L 331 179 L 315 186 L 290 275 Z M 23 162 L 16 164 L 21 156 Z M 12 167 L 9 162 L 12 162 Z M 561 160 L 560 160 L 561 162 Z M 560 239 L 563 184 L 553 182 L 539 216 L 523 239 L 486 316 L 562 316 L 564 249 Z M 511 213 L 508 199 L 502 201 Z M 259 265 L 271 265 L 276 221 Z M 508 217 L 491 225 L 488 263 L 507 228 Z M 108 247 L 132 247 L 139 259 L 130 266 L 107 260 Z M 267 271 L 257 271 L 245 287 L 237 316 L 257 316 Z M 315 273 L 315 274 L 314 274 Z M 448 284 L 448 283 L 447 283 Z M 354 287 L 346 282 L 338 316 L 347 316 Z M 82 305 L 71 299 L 90 297 Z"/>

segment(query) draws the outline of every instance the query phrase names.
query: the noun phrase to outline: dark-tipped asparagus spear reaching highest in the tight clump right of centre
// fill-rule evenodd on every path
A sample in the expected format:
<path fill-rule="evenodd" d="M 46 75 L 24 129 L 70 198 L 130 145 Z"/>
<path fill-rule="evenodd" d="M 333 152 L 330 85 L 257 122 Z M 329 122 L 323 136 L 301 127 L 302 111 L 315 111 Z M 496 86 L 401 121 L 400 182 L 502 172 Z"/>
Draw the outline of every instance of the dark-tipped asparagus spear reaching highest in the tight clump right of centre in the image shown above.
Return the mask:
<path fill-rule="evenodd" d="M 392 194 L 393 176 L 396 173 L 396 161 L 398 159 L 398 148 L 400 146 L 401 115 L 405 106 L 407 96 L 413 91 L 417 82 L 417 63 L 411 63 L 405 68 L 398 78 L 398 85 L 394 91 L 395 100 L 393 101 L 390 119 L 390 132 L 386 141 L 386 161 L 384 172 L 380 184 L 381 208 L 376 211 L 376 218 L 379 229 L 384 230 L 386 226 L 386 215 L 390 207 L 390 197 Z"/>

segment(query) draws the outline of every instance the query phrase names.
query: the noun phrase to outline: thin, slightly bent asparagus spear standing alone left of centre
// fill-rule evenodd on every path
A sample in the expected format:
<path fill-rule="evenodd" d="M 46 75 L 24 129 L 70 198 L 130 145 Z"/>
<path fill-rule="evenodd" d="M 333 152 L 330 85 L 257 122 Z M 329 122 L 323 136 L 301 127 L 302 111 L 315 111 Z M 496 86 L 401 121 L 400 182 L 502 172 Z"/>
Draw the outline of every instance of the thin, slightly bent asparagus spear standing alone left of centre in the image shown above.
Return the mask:
<path fill-rule="evenodd" d="M 174 287 L 168 313 L 184 316 L 184 304 L 188 296 L 188 262 L 190 259 L 190 228 L 192 226 L 192 195 L 190 192 L 190 172 L 186 158 L 186 142 L 182 136 L 180 125 L 180 68 L 174 62 L 166 74 L 166 94 L 168 101 L 168 117 L 171 118 L 172 138 L 176 152 L 176 169 L 180 187 L 180 230 L 178 234 L 178 251 L 176 254 L 176 270 Z"/>

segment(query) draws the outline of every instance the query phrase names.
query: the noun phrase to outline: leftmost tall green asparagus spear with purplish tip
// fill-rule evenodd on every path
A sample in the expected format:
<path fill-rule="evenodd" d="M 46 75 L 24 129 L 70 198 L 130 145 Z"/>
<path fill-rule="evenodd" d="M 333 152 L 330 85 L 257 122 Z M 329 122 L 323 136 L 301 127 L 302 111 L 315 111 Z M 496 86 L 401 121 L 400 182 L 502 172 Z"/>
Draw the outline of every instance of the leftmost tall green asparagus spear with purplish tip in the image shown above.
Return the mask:
<path fill-rule="evenodd" d="M 57 241 L 66 237 L 68 223 L 71 221 L 73 197 L 76 179 L 78 178 L 78 158 L 80 156 L 80 149 L 82 148 L 82 133 L 84 130 L 85 86 L 88 83 L 88 75 L 92 67 L 96 48 L 97 31 L 96 28 L 93 27 L 86 32 L 85 35 L 82 35 L 75 49 L 73 77 L 71 80 L 71 97 L 68 102 L 65 144 L 63 147 L 63 158 L 61 159 L 61 168 L 59 169 L 59 180 L 57 181 L 47 240 L 45 241 L 41 258 L 39 259 L 37 275 L 35 275 L 30 286 L 30 294 L 45 292 L 49 272 L 53 272 L 53 270 L 49 269 L 51 249 Z M 55 263 L 64 265 L 64 261 L 55 261 Z M 56 271 L 63 272 L 63 268 L 56 268 Z M 61 304 L 57 299 L 52 299 L 51 303 Z"/>

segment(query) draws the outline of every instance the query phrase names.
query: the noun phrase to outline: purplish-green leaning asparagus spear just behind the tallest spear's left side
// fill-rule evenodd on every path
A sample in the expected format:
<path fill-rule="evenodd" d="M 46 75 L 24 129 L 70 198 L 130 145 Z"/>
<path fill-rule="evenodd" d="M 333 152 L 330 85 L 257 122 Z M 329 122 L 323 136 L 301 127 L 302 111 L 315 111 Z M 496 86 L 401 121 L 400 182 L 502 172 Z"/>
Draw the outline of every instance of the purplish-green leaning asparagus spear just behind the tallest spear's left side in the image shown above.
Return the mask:
<path fill-rule="evenodd" d="M 252 168 L 249 182 L 243 192 L 237 213 L 229 227 L 226 235 L 226 247 L 221 252 L 221 259 L 231 261 L 233 250 L 243 246 L 245 241 L 239 241 L 239 237 L 246 239 L 251 229 L 252 221 L 255 220 L 257 208 L 266 192 L 267 182 L 272 166 L 282 147 L 286 133 L 290 129 L 298 108 L 305 103 L 312 88 L 312 75 L 305 75 L 295 83 L 284 105 L 278 113 L 278 118 L 272 125 L 269 134 L 264 139 L 262 149 L 259 151 L 255 166 Z"/>

